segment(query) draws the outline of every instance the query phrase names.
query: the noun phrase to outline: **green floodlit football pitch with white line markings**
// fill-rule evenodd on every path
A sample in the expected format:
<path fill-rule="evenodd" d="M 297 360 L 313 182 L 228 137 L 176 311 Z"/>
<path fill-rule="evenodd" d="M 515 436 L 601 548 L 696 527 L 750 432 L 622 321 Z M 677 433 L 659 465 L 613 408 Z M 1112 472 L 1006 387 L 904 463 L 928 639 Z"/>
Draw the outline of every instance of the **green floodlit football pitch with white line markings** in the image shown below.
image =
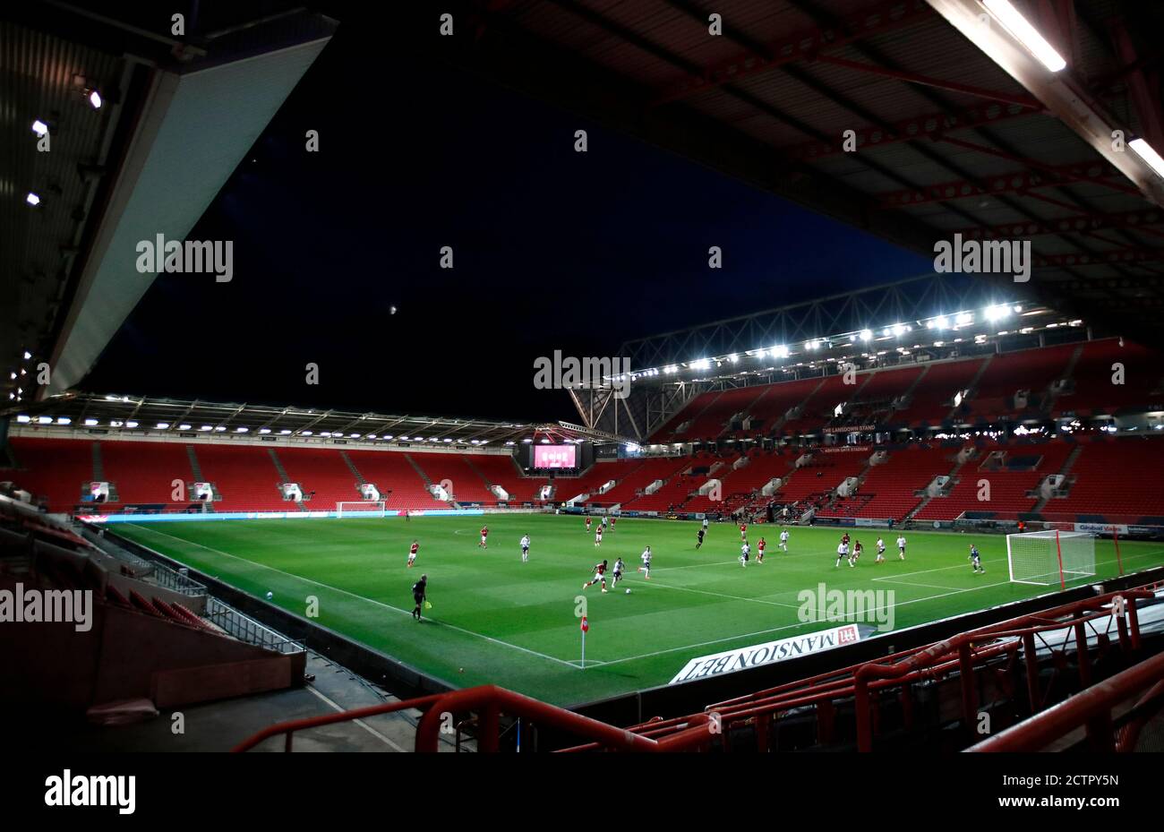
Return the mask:
<path fill-rule="evenodd" d="M 489 525 L 489 548 L 478 529 Z M 865 545 L 854 568 L 835 568 L 838 528 L 751 526 L 752 561 L 741 568 L 739 529 L 711 524 L 695 549 L 697 524 L 624 518 L 601 548 L 579 515 L 345 518 L 118 524 L 114 531 L 456 687 L 499 684 L 572 705 L 666 684 L 689 659 L 836 626 L 803 623 L 803 590 L 882 590 L 894 630 L 1050 592 L 1008 581 L 1006 538 L 908 532 L 907 560 L 885 529 L 887 561 L 874 563 L 876 529 L 849 529 Z M 518 541 L 528 533 L 530 561 Z M 767 539 L 764 564 L 755 545 Z M 409 546 L 420 552 L 406 568 Z M 967 560 L 970 543 L 985 574 Z M 651 579 L 637 571 L 646 546 Z M 1124 571 L 1164 564 L 1164 546 L 1120 543 Z M 617 592 L 582 591 L 591 568 L 622 556 Z M 1109 540 L 1095 541 L 1096 577 L 1117 574 Z M 432 609 L 418 624 L 411 586 L 428 575 Z M 608 573 L 609 584 L 609 573 Z M 626 589 L 631 592 L 627 595 Z M 892 593 L 889 592 L 892 591 Z M 576 617 L 584 596 L 590 630 L 585 668 Z"/>

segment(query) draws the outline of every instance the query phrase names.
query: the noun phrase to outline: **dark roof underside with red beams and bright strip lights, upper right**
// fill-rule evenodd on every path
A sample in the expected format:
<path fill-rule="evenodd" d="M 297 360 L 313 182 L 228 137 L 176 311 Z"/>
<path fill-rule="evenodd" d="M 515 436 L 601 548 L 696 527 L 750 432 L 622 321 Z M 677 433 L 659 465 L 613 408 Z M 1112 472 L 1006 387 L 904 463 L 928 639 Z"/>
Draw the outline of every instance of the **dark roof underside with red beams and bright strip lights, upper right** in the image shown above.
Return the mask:
<path fill-rule="evenodd" d="M 447 57 L 930 256 L 1029 239 L 1042 303 L 1152 333 L 1164 178 L 1112 131 L 1164 152 L 1164 6 L 1012 2 L 1065 70 L 977 0 L 466 1 Z"/>

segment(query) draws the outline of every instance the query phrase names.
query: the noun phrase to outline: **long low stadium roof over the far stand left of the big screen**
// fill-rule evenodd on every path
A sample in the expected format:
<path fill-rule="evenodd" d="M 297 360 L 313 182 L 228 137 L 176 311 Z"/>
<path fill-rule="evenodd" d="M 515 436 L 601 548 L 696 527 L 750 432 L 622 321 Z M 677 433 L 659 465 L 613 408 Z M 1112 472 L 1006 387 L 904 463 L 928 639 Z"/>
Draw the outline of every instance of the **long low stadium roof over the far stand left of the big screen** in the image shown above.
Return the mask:
<path fill-rule="evenodd" d="M 504 446 L 531 442 L 608 442 L 627 440 L 570 422 L 504 422 L 427 415 L 356 413 L 340 410 L 256 404 L 180 401 L 136 396 L 68 392 L 5 414 L 14 425 L 36 426 L 55 435 L 267 436 L 272 440 L 400 443 L 411 446 Z"/>

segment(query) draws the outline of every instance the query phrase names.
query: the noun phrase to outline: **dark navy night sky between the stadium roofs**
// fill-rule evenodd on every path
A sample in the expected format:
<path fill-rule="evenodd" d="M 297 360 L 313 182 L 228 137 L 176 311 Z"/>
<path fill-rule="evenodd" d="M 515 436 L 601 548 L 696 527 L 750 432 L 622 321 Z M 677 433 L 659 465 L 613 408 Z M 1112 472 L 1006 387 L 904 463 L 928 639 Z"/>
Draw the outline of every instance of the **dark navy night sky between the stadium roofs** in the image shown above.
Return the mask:
<path fill-rule="evenodd" d="M 338 35 L 192 230 L 234 241 L 233 282 L 158 276 L 81 389 L 574 420 L 565 394 L 533 389 L 535 357 L 615 355 L 625 339 L 930 268 L 426 61 L 419 38 L 389 48 L 367 14 L 335 15 Z"/>

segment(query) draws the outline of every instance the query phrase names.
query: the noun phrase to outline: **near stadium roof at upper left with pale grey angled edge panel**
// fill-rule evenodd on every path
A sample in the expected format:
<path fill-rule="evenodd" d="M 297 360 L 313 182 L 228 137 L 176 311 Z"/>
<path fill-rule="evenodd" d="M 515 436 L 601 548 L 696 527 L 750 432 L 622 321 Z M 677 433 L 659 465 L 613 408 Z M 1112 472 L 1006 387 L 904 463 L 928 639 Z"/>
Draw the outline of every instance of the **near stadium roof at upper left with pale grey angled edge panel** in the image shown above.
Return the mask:
<path fill-rule="evenodd" d="M 150 6 L 0 6 L 0 383 L 26 400 L 23 355 L 41 394 L 84 377 L 156 276 L 137 243 L 186 237 L 336 26 L 237 0 L 171 36 Z"/>

